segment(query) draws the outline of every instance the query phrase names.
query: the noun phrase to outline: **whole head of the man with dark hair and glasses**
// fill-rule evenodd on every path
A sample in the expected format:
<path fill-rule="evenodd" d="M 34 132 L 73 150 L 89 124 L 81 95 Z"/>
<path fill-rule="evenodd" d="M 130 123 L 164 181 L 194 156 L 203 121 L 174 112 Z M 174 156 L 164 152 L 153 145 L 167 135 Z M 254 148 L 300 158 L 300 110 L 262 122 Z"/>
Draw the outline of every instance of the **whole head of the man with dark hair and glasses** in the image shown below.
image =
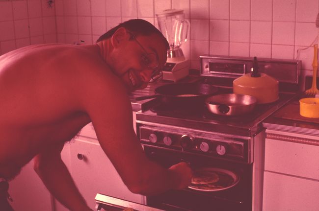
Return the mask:
<path fill-rule="evenodd" d="M 130 91 L 147 86 L 152 74 L 166 62 L 168 42 L 151 23 L 134 19 L 107 31 L 97 44 L 104 48 L 106 63 Z"/>

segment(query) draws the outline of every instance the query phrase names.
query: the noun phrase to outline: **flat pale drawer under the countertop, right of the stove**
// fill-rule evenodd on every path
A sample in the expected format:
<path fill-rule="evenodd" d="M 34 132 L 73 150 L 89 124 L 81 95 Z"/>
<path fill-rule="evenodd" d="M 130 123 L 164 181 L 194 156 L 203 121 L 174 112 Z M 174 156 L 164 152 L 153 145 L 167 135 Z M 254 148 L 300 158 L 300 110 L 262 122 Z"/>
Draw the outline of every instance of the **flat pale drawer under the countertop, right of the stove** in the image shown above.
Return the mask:
<path fill-rule="evenodd" d="M 319 180 L 319 146 L 267 138 L 265 170 Z"/>

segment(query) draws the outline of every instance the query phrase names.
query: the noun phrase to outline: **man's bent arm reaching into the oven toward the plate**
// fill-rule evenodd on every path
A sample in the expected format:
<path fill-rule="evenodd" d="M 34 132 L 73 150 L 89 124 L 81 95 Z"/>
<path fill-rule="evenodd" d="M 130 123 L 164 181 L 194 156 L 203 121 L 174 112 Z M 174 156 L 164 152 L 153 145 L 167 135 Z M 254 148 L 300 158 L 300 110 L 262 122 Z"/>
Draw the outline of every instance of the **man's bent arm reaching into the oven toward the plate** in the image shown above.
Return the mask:
<path fill-rule="evenodd" d="M 112 76 L 110 76 L 112 77 Z M 180 163 L 165 169 L 145 156 L 133 130 L 132 106 L 121 82 L 96 78 L 81 92 L 100 145 L 123 182 L 134 193 L 158 194 L 190 185 L 191 169 Z"/>

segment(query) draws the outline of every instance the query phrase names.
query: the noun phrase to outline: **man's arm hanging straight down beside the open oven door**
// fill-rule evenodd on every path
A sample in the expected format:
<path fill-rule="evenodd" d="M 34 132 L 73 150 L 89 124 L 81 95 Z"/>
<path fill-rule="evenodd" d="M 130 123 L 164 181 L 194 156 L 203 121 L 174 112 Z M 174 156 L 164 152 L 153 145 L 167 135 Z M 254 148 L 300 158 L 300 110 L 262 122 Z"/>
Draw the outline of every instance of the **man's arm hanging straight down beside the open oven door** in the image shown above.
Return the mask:
<path fill-rule="evenodd" d="M 71 211 L 92 211 L 76 187 L 60 152 L 64 143 L 49 146 L 34 158 L 34 169 L 53 196 Z"/>

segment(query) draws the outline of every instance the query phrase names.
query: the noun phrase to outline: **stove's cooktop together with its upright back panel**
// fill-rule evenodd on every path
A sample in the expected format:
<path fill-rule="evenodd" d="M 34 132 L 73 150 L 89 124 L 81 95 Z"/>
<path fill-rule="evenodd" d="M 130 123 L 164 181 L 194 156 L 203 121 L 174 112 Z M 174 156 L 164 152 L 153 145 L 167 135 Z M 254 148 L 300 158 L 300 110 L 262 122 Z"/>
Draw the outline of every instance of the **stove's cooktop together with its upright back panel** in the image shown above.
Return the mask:
<path fill-rule="evenodd" d="M 231 64 L 231 65 L 230 65 Z M 262 129 L 262 121 L 292 100 L 298 93 L 298 75 L 301 62 L 295 60 L 260 59 L 260 69 L 279 81 L 279 99 L 272 103 L 257 104 L 254 110 L 240 116 L 220 116 L 210 113 L 205 103 L 197 108 L 162 105 L 156 102 L 149 109 L 136 113 L 136 122 L 192 128 L 253 137 Z M 233 93 L 233 80 L 247 73 L 251 58 L 202 56 L 201 74 L 197 81 L 218 88 L 216 94 Z"/>

